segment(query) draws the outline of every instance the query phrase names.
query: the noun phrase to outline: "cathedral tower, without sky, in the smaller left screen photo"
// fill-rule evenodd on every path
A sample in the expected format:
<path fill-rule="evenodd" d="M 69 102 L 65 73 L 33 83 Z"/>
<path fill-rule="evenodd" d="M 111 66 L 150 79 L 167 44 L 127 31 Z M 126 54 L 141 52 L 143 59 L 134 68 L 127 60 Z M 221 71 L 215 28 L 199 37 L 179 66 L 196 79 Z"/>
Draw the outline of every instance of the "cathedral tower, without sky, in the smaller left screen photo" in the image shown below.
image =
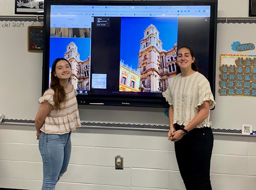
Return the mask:
<path fill-rule="evenodd" d="M 64 58 L 71 64 L 71 83 L 75 89 L 89 89 L 90 81 L 90 56 L 85 61 L 80 60 L 77 45 L 71 42 L 67 46 Z"/>

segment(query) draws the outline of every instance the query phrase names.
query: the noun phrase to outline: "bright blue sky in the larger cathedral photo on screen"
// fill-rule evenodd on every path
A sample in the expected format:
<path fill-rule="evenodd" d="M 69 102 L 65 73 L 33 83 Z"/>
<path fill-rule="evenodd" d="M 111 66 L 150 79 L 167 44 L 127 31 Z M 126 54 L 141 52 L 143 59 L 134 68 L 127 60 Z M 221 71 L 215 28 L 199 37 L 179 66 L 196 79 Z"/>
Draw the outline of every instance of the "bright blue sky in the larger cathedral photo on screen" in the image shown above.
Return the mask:
<path fill-rule="evenodd" d="M 177 18 L 122 17 L 120 60 L 124 60 L 124 63 L 133 69 L 138 67 L 140 41 L 144 37 L 144 30 L 150 24 L 155 25 L 159 31 L 164 50 L 172 49 L 174 43 L 177 43 Z"/>

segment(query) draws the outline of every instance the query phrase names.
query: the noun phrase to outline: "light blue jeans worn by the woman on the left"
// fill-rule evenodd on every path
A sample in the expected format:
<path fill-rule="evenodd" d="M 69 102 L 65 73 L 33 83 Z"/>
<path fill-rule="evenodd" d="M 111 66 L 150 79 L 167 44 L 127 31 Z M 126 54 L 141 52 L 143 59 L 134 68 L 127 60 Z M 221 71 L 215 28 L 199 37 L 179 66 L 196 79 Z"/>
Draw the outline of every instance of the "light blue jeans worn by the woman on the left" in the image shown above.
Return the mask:
<path fill-rule="evenodd" d="M 71 155 L 71 132 L 64 135 L 41 132 L 39 150 L 43 159 L 42 190 L 55 190 L 59 178 L 67 171 Z"/>

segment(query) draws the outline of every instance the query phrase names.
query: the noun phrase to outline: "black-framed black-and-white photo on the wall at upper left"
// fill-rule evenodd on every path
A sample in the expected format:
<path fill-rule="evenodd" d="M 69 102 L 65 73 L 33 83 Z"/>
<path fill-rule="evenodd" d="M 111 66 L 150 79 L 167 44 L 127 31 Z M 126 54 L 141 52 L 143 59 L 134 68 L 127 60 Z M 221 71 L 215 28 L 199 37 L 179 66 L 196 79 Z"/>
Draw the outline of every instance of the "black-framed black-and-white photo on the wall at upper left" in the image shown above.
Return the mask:
<path fill-rule="evenodd" d="M 44 14 L 44 0 L 15 0 L 15 14 Z"/>

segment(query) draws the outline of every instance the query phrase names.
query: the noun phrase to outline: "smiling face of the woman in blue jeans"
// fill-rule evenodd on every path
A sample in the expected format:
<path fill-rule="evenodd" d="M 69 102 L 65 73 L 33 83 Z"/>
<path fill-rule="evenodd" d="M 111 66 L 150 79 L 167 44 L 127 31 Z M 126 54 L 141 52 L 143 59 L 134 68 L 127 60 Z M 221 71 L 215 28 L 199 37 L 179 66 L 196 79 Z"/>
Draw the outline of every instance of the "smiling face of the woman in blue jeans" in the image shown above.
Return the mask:
<path fill-rule="evenodd" d="M 71 67 L 67 61 L 60 60 L 57 62 L 54 76 L 57 76 L 59 80 L 64 80 L 69 79 L 71 74 Z"/>

